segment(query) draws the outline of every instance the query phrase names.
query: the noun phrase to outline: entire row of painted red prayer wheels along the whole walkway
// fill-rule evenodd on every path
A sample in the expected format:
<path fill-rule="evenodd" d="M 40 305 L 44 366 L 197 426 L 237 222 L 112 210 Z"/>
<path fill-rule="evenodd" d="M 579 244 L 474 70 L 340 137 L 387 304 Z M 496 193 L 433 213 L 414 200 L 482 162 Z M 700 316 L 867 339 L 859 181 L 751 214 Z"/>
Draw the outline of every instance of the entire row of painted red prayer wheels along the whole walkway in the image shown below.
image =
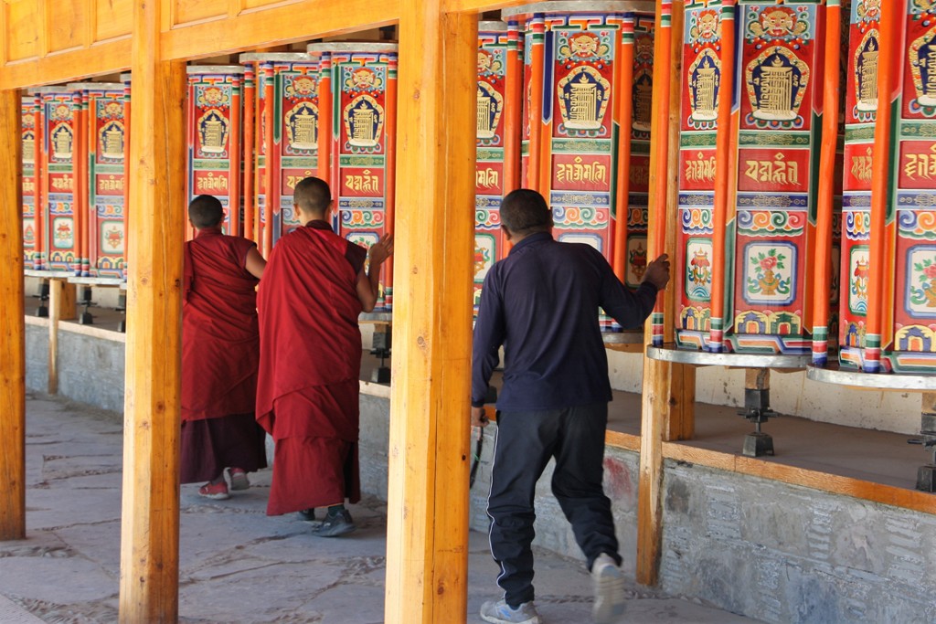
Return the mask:
<path fill-rule="evenodd" d="M 838 349 L 845 367 L 931 372 L 936 9 L 707 0 L 683 10 L 676 346 L 820 366 Z M 479 24 L 475 304 L 507 251 L 500 199 L 519 186 L 548 198 L 558 239 L 591 244 L 639 283 L 654 36 L 670 17 L 656 24 L 650 2 L 543 2 Z M 343 236 L 367 245 L 392 230 L 395 46 L 240 61 L 189 67 L 190 196 L 219 196 L 226 231 L 267 253 L 297 225 L 292 189 L 307 175 L 330 182 Z M 27 267 L 125 277 L 129 90 L 109 86 L 24 98 L 24 146 L 35 145 L 23 150 Z M 844 123 L 830 132 L 836 111 Z"/>

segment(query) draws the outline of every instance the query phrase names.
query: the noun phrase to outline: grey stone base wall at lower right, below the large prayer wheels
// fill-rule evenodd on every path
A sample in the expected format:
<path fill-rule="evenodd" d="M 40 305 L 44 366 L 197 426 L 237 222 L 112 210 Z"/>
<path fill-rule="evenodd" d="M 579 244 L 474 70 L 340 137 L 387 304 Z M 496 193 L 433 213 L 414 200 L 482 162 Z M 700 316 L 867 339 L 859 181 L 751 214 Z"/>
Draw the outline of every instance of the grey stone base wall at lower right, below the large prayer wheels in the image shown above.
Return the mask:
<path fill-rule="evenodd" d="M 667 461 L 661 583 L 767 622 L 936 622 L 936 516 Z"/>

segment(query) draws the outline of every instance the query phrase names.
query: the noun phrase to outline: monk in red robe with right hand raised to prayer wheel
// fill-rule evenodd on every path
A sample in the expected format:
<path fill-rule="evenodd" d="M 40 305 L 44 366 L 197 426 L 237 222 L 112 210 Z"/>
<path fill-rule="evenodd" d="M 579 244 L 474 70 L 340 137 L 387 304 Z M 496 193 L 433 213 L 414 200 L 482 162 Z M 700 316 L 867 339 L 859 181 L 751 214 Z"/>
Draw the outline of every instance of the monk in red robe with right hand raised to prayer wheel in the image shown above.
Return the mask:
<path fill-rule="evenodd" d="M 304 226 L 273 247 L 257 294 L 256 419 L 276 443 L 267 514 L 305 510 L 308 518 L 327 507 L 316 529 L 323 537 L 355 529 L 344 501 L 360 500 L 358 314 L 373 310 L 380 266 L 393 253 L 389 236 L 368 253 L 332 232 L 331 207 L 325 181 L 296 185 Z"/>

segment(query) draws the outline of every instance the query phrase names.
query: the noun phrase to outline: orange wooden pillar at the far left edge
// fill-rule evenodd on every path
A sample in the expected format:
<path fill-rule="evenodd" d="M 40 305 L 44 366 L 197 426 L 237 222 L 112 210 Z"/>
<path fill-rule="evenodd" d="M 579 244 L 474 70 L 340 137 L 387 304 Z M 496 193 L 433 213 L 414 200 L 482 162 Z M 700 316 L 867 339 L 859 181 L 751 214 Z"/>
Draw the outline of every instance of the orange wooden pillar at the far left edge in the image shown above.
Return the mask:
<path fill-rule="evenodd" d="M 0 91 L 0 541 L 26 536 L 20 92 Z"/>

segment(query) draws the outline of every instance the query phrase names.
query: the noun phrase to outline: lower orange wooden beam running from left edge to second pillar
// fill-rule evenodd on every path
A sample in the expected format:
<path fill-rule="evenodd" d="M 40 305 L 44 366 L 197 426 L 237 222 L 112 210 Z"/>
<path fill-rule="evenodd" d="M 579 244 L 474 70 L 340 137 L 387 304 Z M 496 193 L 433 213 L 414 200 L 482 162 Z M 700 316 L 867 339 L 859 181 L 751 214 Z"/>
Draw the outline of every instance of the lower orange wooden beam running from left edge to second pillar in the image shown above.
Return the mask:
<path fill-rule="evenodd" d="M 130 37 L 97 43 L 90 48 L 54 52 L 41 58 L 0 66 L 0 89 L 21 89 L 61 84 L 91 76 L 125 71 L 130 59 Z"/>

